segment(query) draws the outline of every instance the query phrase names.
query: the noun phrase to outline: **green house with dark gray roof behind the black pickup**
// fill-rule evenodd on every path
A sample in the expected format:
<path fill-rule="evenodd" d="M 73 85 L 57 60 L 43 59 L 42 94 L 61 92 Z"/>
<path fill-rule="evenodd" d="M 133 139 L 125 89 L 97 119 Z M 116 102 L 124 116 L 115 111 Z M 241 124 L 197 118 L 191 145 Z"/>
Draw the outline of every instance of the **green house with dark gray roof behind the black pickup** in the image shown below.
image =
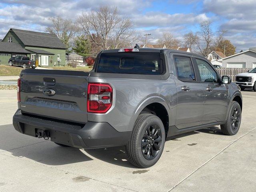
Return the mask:
<path fill-rule="evenodd" d="M 11 28 L 0 42 L 0 64 L 12 56 L 28 56 L 40 66 L 66 64 L 66 46 L 55 35 Z"/>

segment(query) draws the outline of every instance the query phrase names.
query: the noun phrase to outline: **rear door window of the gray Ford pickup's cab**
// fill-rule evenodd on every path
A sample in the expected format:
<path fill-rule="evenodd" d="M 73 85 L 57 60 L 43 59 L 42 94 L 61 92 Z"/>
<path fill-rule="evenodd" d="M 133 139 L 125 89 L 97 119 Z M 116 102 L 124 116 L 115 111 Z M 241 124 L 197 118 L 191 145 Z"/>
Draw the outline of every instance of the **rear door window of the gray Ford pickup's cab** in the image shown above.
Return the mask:
<path fill-rule="evenodd" d="M 195 73 L 190 57 L 174 56 L 178 79 L 182 81 L 195 81 Z"/>

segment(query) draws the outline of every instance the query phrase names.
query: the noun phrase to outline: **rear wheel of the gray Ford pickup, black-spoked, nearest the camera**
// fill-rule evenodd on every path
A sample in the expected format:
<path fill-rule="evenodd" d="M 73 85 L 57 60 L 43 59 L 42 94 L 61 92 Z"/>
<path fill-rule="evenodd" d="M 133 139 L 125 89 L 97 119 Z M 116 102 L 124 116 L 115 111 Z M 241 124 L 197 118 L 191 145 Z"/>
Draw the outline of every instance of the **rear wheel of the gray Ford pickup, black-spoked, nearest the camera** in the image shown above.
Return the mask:
<path fill-rule="evenodd" d="M 150 133 L 152 137 L 149 136 Z M 153 166 L 162 155 L 164 143 L 165 130 L 160 118 L 154 114 L 140 114 L 126 146 L 128 159 L 131 164 L 140 168 Z"/>

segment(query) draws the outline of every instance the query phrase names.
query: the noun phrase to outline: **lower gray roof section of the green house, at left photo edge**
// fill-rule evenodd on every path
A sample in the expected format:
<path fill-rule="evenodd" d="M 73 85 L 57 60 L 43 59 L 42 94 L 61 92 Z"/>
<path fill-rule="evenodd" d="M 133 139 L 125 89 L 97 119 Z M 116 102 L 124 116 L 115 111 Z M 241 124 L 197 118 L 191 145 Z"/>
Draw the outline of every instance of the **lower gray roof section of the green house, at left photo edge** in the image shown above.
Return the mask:
<path fill-rule="evenodd" d="M 0 42 L 0 52 L 30 54 L 30 51 L 25 50 L 19 44 L 8 42 Z"/>

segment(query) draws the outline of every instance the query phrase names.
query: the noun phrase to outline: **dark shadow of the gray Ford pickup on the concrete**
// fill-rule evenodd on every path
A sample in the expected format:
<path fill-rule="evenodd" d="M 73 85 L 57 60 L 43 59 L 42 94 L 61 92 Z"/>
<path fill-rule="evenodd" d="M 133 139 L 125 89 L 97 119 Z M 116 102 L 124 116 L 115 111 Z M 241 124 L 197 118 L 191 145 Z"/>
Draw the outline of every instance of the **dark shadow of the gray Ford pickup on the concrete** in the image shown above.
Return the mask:
<path fill-rule="evenodd" d="M 222 134 L 218 127 L 211 127 L 180 134 L 166 141 L 168 142 L 169 140 L 175 140 L 192 134 L 199 134 L 200 132 Z M 95 158 L 118 166 L 136 168 L 128 161 L 125 146 L 90 150 L 62 147 L 49 140 L 20 134 L 14 130 L 12 124 L 0 126 L 0 154 L 1 153 L 6 155 L 12 154 L 16 158 L 27 158 L 42 164 L 54 166 L 87 162 Z"/>

